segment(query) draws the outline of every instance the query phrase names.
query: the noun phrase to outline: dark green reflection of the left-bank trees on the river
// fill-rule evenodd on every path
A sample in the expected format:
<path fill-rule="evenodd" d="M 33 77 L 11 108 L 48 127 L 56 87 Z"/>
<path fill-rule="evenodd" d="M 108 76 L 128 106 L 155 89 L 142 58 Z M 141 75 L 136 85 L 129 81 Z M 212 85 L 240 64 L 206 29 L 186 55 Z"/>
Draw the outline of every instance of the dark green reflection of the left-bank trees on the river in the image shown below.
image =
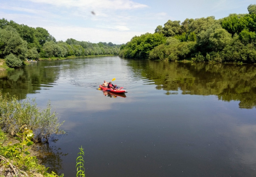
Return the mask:
<path fill-rule="evenodd" d="M 46 68 L 56 63 L 38 62 L 24 68 L 8 71 L 6 75 L 0 74 L 0 88 L 4 93 L 16 95 L 18 99 L 25 99 L 28 93 L 53 87 L 58 79 L 59 68 Z M 0 71 L 2 72 L 2 71 Z"/>

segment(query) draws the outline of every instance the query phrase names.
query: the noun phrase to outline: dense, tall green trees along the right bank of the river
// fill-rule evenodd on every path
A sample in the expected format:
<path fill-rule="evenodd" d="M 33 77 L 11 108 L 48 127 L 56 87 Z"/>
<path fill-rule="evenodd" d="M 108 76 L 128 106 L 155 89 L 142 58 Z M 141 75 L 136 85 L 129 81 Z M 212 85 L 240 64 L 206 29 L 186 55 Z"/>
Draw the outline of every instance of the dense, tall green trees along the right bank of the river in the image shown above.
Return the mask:
<path fill-rule="evenodd" d="M 248 14 L 168 20 L 155 33 L 134 36 L 120 48 L 120 57 L 195 62 L 256 63 L 256 4 Z"/>

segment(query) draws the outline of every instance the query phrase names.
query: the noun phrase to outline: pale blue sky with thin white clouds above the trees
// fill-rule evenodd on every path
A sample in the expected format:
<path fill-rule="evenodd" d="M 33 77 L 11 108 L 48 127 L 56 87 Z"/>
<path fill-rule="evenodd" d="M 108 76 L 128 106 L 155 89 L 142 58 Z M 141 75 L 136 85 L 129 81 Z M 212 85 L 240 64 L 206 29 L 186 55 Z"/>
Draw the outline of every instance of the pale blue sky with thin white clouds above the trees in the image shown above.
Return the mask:
<path fill-rule="evenodd" d="M 168 20 L 221 19 L 248 14 L 255 0 L 0 0 L 0 19 L 46 29 L 57 41 L 73 38 L 123 44 L 154 33 Z"/>

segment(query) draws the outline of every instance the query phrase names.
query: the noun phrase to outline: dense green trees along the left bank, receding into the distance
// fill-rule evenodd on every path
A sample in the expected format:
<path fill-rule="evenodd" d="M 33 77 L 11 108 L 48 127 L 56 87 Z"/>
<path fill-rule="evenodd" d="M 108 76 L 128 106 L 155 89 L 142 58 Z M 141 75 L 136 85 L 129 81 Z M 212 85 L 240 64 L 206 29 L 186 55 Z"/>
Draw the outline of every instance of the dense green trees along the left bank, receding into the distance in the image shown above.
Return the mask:
<path fill-rule="evenodd" d="M 5 58 L 6 64 L 13 68 L 22 66 L 26 58 L 118 55 L 120 46 L 112 42 L 91 43 L 72 38 L 65 42 L 56 41 L 46 29 L 0 19 L 0 58 Z"/>

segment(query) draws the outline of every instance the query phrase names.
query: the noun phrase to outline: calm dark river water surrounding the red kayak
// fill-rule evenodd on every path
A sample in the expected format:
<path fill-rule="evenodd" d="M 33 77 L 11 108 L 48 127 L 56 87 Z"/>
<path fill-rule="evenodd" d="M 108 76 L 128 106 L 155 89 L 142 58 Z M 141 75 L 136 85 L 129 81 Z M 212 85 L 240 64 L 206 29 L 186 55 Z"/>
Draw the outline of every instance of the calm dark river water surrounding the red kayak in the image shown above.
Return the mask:
<path fill-rule="evenodd" d="M 103 93 L 103 80 L 127 90 Z M 87 177 L 255 177 L 256 66 L 115 57 L 40 61 L 0 72 L 3 92 L 36 98 L 66 135 L 39 147 L 42 161 Z"/>

